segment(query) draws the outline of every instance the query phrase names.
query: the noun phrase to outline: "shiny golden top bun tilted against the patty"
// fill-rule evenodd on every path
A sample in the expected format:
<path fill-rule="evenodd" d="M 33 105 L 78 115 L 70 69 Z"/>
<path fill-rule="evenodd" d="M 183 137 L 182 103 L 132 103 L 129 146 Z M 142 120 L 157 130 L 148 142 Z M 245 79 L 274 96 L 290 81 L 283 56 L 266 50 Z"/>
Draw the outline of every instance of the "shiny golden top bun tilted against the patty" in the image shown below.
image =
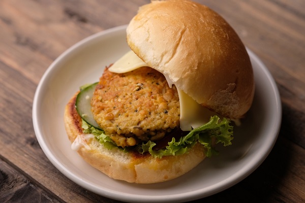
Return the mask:
<path fill-rule="evenodd" d="M 202 106 L 232 119 L 250 109 L 254 78 L 246 48 L 208 7 L 188 0 L 151 1 L 131 20 L 127 42 Z"/>

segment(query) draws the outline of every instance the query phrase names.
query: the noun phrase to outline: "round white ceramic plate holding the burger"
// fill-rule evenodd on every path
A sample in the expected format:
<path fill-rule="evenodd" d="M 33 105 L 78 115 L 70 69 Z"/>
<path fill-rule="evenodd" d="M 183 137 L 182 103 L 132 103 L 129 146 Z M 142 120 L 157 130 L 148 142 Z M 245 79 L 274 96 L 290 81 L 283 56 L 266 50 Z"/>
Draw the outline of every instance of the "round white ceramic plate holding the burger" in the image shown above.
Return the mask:
<path fill-rule="evenodd" d="M 38 142 L 60 172 L 78 185 L 105 197 L 132 202 L 179 202 L 225 190 L 250 175 L 276 142 L 281 102 L 275 81 L 259 58 L 249 51 L 256 91 L 253 106 L 235 138 L 221 154 L 205 159 L 190 173 L 158 184 L 131 184 L 108 178 L 84 162 L 66 136 L 63 114 L 70 97 L 86 83 L 99 80 L 106 65 L 125 54 L 126 26 L 90 36 L 60 55 L 42 77 L 33 104 Z"/>

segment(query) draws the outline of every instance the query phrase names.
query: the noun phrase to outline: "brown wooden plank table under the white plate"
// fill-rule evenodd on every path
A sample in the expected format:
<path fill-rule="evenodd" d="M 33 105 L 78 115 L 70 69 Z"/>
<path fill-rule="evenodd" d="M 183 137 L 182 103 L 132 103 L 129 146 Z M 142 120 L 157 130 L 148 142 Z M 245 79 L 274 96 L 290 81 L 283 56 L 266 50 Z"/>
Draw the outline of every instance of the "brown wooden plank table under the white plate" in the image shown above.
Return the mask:
<path fill-rule="evenodd" d="M 56 170 L 37 142 L 32 103 L 58 55 L 96 32 L 128 24 L 148 2 L 0 1 L 0 202 L 117 202 Z M 225 17 L 262 59 L 283 105 L 279 138 L 267 159 L 248 178 L 204 201 L 304 202 L 305 1 L 198 2 Z"/>

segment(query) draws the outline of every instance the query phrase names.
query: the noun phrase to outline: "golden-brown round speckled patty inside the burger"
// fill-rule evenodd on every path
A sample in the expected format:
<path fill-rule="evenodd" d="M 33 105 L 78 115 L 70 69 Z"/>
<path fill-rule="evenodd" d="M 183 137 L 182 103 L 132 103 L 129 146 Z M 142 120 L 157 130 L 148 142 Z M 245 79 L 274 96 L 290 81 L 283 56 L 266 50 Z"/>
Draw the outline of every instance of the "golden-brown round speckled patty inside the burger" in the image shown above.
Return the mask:
<path fill-rule="evenodd" d="M 106 68 L 91 105 L 97 123 L 122 147 L 160 140 L 179 126 L 177 89 L 150 67 L 124 74 Z"/>

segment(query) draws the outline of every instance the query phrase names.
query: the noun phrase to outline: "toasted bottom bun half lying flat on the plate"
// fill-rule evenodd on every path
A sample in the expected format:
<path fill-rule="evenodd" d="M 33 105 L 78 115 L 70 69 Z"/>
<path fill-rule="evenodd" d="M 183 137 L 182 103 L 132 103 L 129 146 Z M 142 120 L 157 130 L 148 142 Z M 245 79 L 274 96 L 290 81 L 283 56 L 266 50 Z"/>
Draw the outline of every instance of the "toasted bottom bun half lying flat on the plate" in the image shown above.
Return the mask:
<path fill-rule="evenodd" d="M 77 95 L 77 94 L 76 94 Z M 197 143 L 188 153 L 154 158 L 150 154 L 106 149 L 96 139 L 82 132 L 82 120 L 75 109 L 74 95 L 65 109 L 65 127 L 71 143 L 80 140 L 78 154 L 110 178 L 130 183 L 158 183 L 186 174 L 204 158 L 204 147 Z"/>

